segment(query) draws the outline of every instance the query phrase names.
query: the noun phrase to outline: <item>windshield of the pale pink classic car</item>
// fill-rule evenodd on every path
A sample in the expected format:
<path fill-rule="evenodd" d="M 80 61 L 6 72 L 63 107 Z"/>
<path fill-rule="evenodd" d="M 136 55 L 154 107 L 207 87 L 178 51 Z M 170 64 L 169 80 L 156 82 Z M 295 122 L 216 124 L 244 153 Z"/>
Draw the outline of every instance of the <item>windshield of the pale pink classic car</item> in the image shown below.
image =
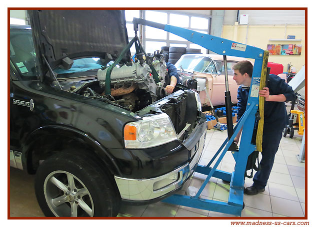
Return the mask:
<path fill-rule="evenodd" d="M 177 70 L 181 68 L 187 72 L 207 72 L 217 73 L 213 61 L 204 56 L 198 55 L 182 55 L 175 63 Z"/>

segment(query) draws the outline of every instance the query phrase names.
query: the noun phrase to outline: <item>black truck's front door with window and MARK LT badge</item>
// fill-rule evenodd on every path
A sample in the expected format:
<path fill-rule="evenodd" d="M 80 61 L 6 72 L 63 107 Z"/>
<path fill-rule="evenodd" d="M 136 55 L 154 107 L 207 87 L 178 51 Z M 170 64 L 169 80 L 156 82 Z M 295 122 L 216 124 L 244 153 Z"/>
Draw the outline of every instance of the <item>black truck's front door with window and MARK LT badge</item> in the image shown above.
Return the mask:
<path fill-rule="evenodd" d="M 10 26 L 10 149 L 21 151 L 22 141 L 36 124 L 34 94 L 38 63 L 29 26 Z"/>

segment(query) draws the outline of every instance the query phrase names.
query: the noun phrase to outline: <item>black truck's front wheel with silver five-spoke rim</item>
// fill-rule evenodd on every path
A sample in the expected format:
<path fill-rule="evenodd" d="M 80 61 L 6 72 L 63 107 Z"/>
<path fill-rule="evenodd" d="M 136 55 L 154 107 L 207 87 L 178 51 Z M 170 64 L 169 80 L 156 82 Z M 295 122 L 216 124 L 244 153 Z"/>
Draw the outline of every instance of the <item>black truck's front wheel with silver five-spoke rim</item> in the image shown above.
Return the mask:
<path fill-rule="evenodd" d="M 36 172 L 35 194 L 46 217 L 115 217 L 121 201 L 113 179 L 83 152 L 45 160 Z"/>

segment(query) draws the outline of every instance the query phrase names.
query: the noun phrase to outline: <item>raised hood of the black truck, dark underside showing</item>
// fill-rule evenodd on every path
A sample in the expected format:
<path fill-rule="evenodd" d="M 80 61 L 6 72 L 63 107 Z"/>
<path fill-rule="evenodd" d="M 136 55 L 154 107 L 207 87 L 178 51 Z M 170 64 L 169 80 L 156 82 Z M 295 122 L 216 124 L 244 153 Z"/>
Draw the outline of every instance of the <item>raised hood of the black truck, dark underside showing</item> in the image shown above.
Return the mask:
<path fill-rule="evenodd" d="M 53 68 L 64 57 L 118 56 L 128 43 L 124 10 L 28 10 L 36 51 Z M 125 59 L 130 59 L 127 51 Z"/>

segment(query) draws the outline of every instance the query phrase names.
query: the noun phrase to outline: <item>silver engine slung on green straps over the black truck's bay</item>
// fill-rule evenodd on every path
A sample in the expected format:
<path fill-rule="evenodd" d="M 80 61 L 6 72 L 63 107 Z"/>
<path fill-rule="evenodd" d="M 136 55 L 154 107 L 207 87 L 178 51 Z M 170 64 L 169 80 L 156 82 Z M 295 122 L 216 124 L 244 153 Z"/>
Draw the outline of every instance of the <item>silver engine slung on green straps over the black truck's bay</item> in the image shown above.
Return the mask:
<path fill-rule="evenodd" d="M 148 64 L 136 60 L 131 66 L 114 67 L 110 74 L 111 94 L 105 95 L 105 78 L 108 68 L 97 71 L 97 81 L 87 81 L 69 91 L 85 97 L 110 102 L 129 111 L 137 111 L 166 96 L 167 70 L 163 57 L 152 57 L 152 65 L 160 82 L 155 83 Z M 73 85 L 73 84 L 72 84 Z M 69 84 L 68 84 L 69 86 Z M 66 86 L 65 86 L 66 87 Z"/>

